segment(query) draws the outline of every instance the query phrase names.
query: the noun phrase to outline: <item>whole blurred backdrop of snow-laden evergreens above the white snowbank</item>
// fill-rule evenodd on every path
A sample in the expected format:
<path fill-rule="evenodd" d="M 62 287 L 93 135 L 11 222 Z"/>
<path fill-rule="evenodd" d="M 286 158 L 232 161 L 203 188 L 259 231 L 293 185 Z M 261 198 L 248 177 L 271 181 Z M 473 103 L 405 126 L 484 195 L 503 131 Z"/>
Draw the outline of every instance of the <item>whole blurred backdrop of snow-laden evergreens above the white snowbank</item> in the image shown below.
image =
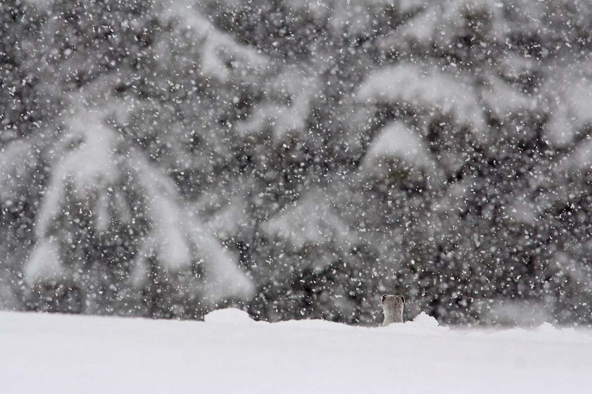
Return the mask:
<path fill-rule="evenodd" d="M 0 308 L 592 323 L 590 2 L 0 18 Z"/>

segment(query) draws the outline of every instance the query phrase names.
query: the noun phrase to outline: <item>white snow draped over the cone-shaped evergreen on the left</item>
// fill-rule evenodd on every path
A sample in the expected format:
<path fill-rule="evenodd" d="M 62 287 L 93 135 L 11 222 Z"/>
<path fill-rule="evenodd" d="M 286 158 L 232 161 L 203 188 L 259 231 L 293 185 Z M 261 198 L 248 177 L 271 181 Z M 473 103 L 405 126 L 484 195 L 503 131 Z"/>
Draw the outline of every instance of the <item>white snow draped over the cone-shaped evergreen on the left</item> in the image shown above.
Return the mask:
<path fill-rule="evenodd" d="M 80 227 L 74 217 L 63 219 L 74 216 L 67 209 L 72 201 L 91 212 L 91 227 L 96 233 L 113 231 L 115 222 L 130 231 L 137 230 L 130 223 L 141 219 L 131 217 L 136 208 L 128 190 L 133 189 L 144 197 L 141 204 L 150 222 L 132 262 L 131 282 L 135 286 L 148 284 L 150 260 L 155 257 L 159 262 L 156 269 L 161 273 L 188 271 L 201 264 L 207 278 L 204 305 L 213 306 L 231 297 L 249 299 L 254 285 L 237 267 L 236 256 L 223 248 L 186 206 L 172 178 L 139 149 L 118 148 L 121 141 L 117 133 L 98 121 L 100 113 L 88 111 L 85 116 L 71 119 L 65 138 L 59 142 L 65 154 L 57 161 L 37 214 L 36 246 L 24 265 L 27 283 L 67 281 L 78 276 L 60 253 L 63 243 L 71 243 L 70 230 L 66 226 L 56 231 L 66 220 L 72 227 Z M 115 213 L 111 214 L 111 210 Z"/>

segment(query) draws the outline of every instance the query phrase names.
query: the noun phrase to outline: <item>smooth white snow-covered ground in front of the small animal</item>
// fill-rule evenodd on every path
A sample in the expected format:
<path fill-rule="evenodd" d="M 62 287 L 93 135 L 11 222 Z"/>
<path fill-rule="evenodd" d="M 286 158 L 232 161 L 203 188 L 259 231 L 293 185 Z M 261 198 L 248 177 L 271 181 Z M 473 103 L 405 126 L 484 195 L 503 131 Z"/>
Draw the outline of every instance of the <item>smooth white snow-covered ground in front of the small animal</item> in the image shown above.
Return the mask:
<path fill-rule="evenodd" d="M 592 393 L 592 330 L 0 312 L 0 392 Z"/>

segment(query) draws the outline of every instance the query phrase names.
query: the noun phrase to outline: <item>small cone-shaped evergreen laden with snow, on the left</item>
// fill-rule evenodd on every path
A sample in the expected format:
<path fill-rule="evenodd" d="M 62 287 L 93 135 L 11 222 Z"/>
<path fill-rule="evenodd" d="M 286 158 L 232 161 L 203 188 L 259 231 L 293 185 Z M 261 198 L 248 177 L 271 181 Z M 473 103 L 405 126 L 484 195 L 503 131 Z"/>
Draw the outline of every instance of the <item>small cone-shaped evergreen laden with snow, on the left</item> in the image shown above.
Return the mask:
<path fill-rule="evenodd" d="M 102 124 L 101 112 L 76 114 L 54 146 L 25 279 L 76 291 L 86 312 L 108 311 L 114 301 L 118 311 L 137 312 L 138 299 L 165 295 L 186 303 L 174 300 L 180 274 L 195 303 L 189 315 L 227 297 L 248 298 L 249 279 L 186 209 L 173 180 Z"/>

